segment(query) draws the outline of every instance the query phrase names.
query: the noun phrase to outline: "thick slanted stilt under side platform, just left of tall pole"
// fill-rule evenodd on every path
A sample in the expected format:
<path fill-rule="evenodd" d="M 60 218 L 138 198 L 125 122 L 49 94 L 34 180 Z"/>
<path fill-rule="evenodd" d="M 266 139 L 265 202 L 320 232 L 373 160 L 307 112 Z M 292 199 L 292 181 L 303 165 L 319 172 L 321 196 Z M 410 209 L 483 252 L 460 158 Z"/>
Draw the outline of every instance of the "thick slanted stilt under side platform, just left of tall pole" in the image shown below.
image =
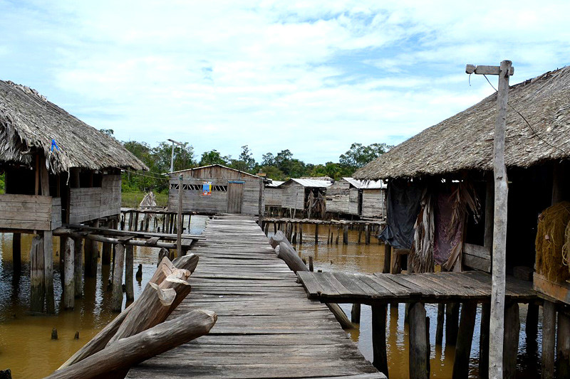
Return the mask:
<path fill-rule="evenodd" d="M 453 362 L 453 379 L 469 378 L 469 357 L 471 353 L 471 342 L 473 340 L 473 329 L 475 329 L 476 313 L 476 301 L 463 303 L 455 348 L 455 361 Z M 517 354 L 515 354 L 515 357 L 516 356 Z"/>

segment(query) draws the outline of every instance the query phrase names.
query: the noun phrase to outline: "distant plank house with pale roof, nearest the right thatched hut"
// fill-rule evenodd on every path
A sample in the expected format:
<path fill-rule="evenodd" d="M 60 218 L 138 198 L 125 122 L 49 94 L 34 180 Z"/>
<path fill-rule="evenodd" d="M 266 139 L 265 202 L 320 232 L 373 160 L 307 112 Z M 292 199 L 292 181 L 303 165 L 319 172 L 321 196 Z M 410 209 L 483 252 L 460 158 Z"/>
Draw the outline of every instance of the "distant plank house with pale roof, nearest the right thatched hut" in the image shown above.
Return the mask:
<path fill-rule="evenodd" d="M 363 218 L 383 218 L 385 183 L 341 178 L 326 188 L 326 211 Z"/>

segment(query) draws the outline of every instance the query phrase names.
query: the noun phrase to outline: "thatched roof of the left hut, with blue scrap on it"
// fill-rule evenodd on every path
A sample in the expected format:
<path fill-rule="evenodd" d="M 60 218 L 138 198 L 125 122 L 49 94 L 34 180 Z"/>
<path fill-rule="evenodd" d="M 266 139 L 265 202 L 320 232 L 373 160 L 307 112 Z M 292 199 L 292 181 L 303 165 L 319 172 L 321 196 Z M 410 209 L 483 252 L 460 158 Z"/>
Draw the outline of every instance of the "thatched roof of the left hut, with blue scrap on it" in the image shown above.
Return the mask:
<path fill-rule="evenodd" d="M 59 151 L 51 151 L 52 140 Z M 116 139 L 90 127 L 31 88 L 0 80 L 0 162 L 32 164 L 42 151 L 53 173 L 147 166 Z"/>

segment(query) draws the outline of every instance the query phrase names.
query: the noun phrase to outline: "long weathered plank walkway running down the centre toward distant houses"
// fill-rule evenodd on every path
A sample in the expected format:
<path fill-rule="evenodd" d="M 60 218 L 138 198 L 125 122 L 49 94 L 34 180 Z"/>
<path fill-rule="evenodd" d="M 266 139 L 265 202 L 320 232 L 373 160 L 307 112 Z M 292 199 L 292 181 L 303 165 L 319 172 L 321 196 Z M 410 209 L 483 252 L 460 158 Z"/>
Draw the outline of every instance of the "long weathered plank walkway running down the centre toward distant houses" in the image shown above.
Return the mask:
<path fill-rule="evenodd" d="M 127 378 L 385 378 L 328 308 L 307 299 L 252 218 L 214 218 L 203 235 L 192 293 L 171 317 L 211 309 L 216 325 Z"/>

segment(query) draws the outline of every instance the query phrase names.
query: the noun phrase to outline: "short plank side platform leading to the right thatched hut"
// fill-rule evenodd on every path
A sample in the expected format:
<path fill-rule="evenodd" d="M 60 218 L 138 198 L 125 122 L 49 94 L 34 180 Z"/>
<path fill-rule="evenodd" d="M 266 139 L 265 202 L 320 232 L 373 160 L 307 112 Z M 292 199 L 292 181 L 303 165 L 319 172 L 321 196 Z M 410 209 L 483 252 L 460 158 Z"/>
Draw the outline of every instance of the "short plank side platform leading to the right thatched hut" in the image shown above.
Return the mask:
<path fill-rule="evenodd" d="M 309 299 L 334 303 L 489 301 L 491 275 L 486 272 L 425 274 L 352 274 L 298 272 Z M 526 303 L 537 299 L 532 282 L 507 277 L 507 300 Z"/>

